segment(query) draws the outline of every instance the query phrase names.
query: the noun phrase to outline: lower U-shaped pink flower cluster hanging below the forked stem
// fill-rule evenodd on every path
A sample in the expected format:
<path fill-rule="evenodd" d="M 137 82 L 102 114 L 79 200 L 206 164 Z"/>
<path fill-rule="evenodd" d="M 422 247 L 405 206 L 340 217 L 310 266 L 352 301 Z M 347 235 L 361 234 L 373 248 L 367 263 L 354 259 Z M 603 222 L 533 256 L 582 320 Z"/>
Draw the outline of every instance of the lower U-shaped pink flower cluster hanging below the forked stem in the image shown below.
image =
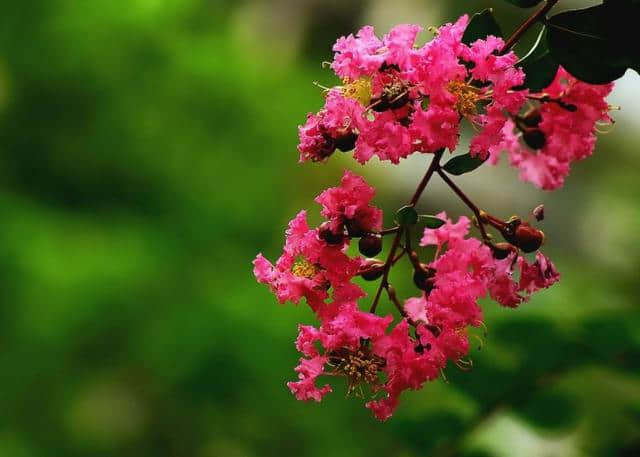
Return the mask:
<path fill-rule="evenodd" d="M 482 324 L 479 298 L 489 294 L 515 307 L 556 282 L 558 273 L 539 252 L 534 263 L 515 252 L 496 259 L 488 246 L 468 237 L 468 218 L 454 224 L 441 213 L 444 225 L 426 229 L 421 241 L 437 247 L 435 259 L 424 265 L 430 286 L 406 301 L 403 318 L 395 324 L 392 315 L 361 311 L 358 300 L 365 293 L 353 280 L 370 262 L 349 257 L 347 249 L 355 236 L 380 231 L 382 212 L 371 206 L 373 197 L 362 178 L 346 171 L 340 186 L 316 198 L 327 221 L 310 229 L 306 213 L 300 212 L 289 223 L 282 256 L 273 265 L 259 254 L 254 274 L 281 303 L 304 297 L 320 322 L 317 328 L 299 328 L 299 379 L 288 383 L 296 398 L 320 401 L 331 387 L 318 378 L 341 376 L 349 393 L 370 397 L 366 406 L 386 420 L 403 391 L 436 379 L 448 361 L 464 363 L 467 327 Z M 358 235 L 349 235 L 348 226 L 354 225 Z M 328 241 L 323 236 L 327 229 L 334 235 Z M 514 278 L 516 265 L 519 280 Z"/>

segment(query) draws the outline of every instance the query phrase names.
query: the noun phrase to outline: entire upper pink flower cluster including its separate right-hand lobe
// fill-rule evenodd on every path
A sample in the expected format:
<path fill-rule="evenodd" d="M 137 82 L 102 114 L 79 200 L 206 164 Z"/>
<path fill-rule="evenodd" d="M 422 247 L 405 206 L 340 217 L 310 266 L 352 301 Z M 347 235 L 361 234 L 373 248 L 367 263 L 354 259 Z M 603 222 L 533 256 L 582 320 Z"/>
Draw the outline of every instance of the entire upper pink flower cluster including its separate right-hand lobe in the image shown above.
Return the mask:
<path fill-rule="evenodd" d="M 353 149 L 363 164 L 453 152 L 467 119 L 476 132 L 471 154 L 495 164 L 507 151 L 523 180 L 561 186 L 571 162 L 593 151 L 596 123 L 609 120 L 604 97 L 612 84 L 583 83 L 560 68 L 532 94 L 522 89 L 518 57 L 501 53 L 501 38 L 462 42 L 468 22 L 465 15 L 440 27 L 421 47 L 417 25 L 398 25 L 382 39 L 370 26 L 340 38 L 331 67 L 343 84 L 327 89 L 324 107 L 299 127 L 300 161 L 324 161 L 336 149 Z"/>

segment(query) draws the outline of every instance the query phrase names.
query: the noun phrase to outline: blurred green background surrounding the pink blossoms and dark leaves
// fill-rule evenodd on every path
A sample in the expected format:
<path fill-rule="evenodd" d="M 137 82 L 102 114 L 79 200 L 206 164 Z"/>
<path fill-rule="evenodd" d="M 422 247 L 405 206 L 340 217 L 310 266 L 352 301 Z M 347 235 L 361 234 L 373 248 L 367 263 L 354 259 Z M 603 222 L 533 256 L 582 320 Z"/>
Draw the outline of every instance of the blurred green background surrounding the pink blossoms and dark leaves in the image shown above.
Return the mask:
<path fill-rule="evenodd" d="M 394 209 L 427 158 L 299 165 L 296 126 L 321 104 L 311 82 L 336 82 L 320 62 L 366 23 L 439 25 L 492 6 L 508 32 L 527 11 L 1 3 L 0 456 L 640 455 L 637 74 L 619 81 L 615 129 L 564 189 L 537 191 L 504 166 L 459 180 L 501 216 L 544 203 L 563 281 L 515 311 L 487 303 L 473 372 L 448 369 L 450 384 L 408 393 L 380 424 L 340 382 L 321 404 L 288 392 L 296 325 L 313 319 L 278 305 L 251 260 L 279 255 L 298 209 L 317 220 L 313 197 L 344 167 Z M 464 212 L 438 182 L 421 205 Z"/>

